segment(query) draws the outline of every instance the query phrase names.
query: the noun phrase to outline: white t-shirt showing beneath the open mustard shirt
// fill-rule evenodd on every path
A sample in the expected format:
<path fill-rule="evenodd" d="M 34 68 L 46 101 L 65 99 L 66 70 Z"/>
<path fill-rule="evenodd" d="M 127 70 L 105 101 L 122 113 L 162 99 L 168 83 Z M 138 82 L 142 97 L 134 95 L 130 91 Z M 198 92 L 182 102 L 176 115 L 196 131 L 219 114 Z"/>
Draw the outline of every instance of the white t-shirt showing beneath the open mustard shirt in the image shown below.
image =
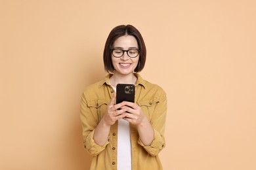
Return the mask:
<path fill-rule="evenodd" d="M 116 91 L 116 88 L 112 86 Z M 131 170 L 131 135 L 129 122 L 118 120 L 117 127 L 117 169 Z"/>

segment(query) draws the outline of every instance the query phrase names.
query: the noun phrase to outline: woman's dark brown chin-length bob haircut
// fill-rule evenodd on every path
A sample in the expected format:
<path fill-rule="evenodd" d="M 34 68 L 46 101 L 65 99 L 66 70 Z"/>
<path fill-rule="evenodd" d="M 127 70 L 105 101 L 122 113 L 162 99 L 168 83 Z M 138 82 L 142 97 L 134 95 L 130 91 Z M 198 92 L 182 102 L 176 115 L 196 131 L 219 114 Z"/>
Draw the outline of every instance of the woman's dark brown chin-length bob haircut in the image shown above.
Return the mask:
<path fill-rule="evenodd" d="M 104 54 L 103 54 L 104 68 L 108 73 L 114 73 L 115 69 L 112 63 L 111 49 L 116 39 L 118 39 L 123 35 L 131 35 L 135 37 L 135 39 L 138 42 L 138 46 L 140 50 L 139 62 L 137 67 L 134 70 L 135 73 L 138 73 L 142 71 L 146 62 L 146 46 L 140 32 L 133 25 L 118 25 L 117 27 L 114 27 L 114 29 L 112 29 L 112 31 L 110 32 L 110 35 L 108 35 L 108 39 L 106 40 L 106 44 L 104 48 Z"/>

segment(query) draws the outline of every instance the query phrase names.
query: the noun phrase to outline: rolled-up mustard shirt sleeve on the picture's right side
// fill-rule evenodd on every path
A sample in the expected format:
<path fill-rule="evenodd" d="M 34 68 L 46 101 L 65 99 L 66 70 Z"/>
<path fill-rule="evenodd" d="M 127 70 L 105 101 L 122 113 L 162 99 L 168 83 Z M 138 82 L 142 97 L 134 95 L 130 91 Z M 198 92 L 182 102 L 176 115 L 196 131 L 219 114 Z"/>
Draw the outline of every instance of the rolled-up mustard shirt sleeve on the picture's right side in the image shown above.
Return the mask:
<path fill-rule="evenodd" d="M 167 97 L 163 92 L 159 100 L 154 106 L 154 112 L 150 119 L 150 124 L 154 129 L 154 139 L 149 146 L 145 146 L 139 138 L 138 143 L 151 155 L 157 156 L 159 152 L 165 147 L 165 119 L 167 114 Z"/>

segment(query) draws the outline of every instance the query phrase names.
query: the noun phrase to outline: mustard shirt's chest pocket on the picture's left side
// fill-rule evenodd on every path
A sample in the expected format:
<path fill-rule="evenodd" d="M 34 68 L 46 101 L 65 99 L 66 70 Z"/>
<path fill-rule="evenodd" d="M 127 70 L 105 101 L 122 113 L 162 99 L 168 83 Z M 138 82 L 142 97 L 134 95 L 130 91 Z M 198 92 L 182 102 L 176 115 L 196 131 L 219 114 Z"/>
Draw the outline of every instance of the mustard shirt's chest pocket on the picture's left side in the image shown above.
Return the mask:
<path fill-rule="evenodd" d="M 108 103 L 109 101 L 106 101 L 105 99 L 95 99 L 87 102 L 87 106 L 91 109 L 95 120 L 98 122 L 100 122 L 106 112 Z"/>

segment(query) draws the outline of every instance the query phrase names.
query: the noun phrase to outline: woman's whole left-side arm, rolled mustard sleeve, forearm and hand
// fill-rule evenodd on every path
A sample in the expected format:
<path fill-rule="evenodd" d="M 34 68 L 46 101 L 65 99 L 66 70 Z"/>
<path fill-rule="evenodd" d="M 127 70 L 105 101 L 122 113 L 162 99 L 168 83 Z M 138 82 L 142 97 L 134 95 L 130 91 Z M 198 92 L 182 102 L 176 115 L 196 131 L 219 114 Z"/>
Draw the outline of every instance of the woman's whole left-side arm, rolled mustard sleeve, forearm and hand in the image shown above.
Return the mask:
<path fill-rule="evenodd" d="M 83 126 L 84 146 L 93 156 L 104 150 L 109 143 L 110 127 L 116 120 L 123 118 L 123 113 L 127 111 L 127 109 L 117 110 L 122 105 L 114 105 L 115 100 L 116 94 L 112 97 L 103 118 L 97 123 L 96 118 L 93 116 L 96 109 L 88 105 L 85 93 L 82 96 L 80 118 Z"/>

